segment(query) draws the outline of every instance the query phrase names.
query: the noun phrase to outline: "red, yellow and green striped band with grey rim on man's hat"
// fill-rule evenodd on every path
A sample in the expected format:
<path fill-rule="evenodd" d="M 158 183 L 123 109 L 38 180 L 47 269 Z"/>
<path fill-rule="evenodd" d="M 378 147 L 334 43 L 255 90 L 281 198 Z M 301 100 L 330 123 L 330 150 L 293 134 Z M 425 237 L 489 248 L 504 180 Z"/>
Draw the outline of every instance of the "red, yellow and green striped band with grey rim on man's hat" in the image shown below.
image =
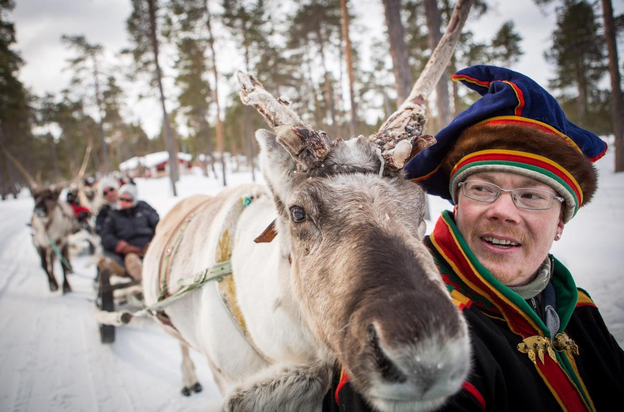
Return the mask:
<path fill-rule="evenodd" d="M 451 171 L 449 192 L 457 203 L 457 184 L 484 171 L 510 172 L 538 180 L 552 187 L 565 199 L 563 222 L 567 223 L 583 204 L 583 192 L 574 177 L 547 157 L 517 150 L 480 150 L 464 156 Z M 513 189 L 513 188 L 505 188 Z"/>

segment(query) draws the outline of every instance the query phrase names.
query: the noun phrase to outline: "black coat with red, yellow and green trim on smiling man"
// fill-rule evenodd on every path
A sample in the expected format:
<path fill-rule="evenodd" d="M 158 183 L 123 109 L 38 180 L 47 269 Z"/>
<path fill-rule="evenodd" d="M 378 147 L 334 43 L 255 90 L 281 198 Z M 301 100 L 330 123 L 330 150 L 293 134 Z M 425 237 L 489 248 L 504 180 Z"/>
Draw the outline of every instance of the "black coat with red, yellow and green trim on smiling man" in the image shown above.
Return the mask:
<path fill-rule="evenodd" d="M 607 330 L 595 303 L 577 289 L 572 276 L 557 259 L 552 258 L 550 280 L 560 318 L 555 336 L 569 336 L 565 341 L 573 343 L 561 351 L 552 351 L 556 361 L 545 351 L 544 362 L 535 356 L 534 363 L 526 350 L 519 350 L 519 344 L 524 347 L 523 340 L 540 336 L 543 342 L 553 336 L 525 300 L 480 265 L 467 248 L 451 213 L 442 214 L 425 243 L 451 297 L 466 316 L 473 352 L 472 370 L 462 390 L 441 411 L 619 408 L 624 393 L 624 352 Z M 373 410 L 348 381 L 339 383 L 340 373 L 336 371 L 323 411 Z"/>

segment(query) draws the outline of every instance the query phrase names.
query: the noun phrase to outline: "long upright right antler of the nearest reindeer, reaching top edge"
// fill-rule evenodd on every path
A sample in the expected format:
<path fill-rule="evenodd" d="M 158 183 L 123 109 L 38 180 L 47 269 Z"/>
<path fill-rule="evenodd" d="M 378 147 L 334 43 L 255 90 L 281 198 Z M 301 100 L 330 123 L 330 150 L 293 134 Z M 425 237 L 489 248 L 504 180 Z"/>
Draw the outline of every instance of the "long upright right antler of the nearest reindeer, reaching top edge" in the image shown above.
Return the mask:
<path fill-rule="evenodd" d="M 449 26 L 429 57 L 409 97 L 381 125 L 379 132 L 370 136 L 381 149 L 386 169 L 402 169 L 412 157 L 436 143 L 433 136 L 421 135 L 427 121 L 424 103 L 451 60 L 473 1 L 457 0 Z"/>

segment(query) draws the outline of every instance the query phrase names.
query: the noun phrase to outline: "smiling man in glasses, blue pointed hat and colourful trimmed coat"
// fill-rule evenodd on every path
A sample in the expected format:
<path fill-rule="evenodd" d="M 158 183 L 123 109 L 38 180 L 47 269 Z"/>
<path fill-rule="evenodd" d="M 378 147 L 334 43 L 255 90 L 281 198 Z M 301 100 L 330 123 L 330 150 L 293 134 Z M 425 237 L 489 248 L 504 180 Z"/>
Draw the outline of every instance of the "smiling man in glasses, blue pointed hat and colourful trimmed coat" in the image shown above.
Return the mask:
<path fill-rule="evenodd" d="M 593 162 L 607 144 L 522 74 L 472 66 L 453 80 L 482 97 L 406 167 L 429 194 L 454 204 L 426 244 L 469 323 L 473 360 L 442 410 L 621 405 L 624 352 L 587 292 L 548 253 L 592 199 Z M 370 410 L 345 376 L 336 373 L 324 410 Z"/>

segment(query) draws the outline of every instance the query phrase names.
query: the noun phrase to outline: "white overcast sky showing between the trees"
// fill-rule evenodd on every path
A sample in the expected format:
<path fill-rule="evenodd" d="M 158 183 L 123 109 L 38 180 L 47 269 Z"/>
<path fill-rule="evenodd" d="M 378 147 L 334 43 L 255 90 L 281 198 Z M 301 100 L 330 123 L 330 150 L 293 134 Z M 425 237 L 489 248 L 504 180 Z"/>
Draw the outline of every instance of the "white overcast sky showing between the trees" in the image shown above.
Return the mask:
<path fill-rule="evenodd" d="M 210 1 L 211 8 L 218 11 L 220 1 Z M 279 0 L 265 0 L 265 4 L 280 10 Z M 502 22 L 514 21 L 515 30 L 523 37 L 521 47 L 524 55 L 512 69 L 546 86 L 548 79 L 553 76 L 552 67 L 544 60 L 544 50 L 550 45 L 550 35 L 555 28 L 553 7 L 544 11 L 535 6 L 534 0 L 495 0 L 490 1 L 490 4 L 490 11 L 478 20 L 469 19 L 467 27 L 475 33 L 477 40 L 488 41 Z M 351 0 L 349 7 L 358 19 L 358 26 L 364 28 L 352 33 L 353 37 L 362 42 L 363 48 L 368 46 L 373 37 L 386 38 L 381 0 Z M 624 1 L 613 1 L 613 7 L 615 14 L 622 13 Z M 84 34 L 87 41 L 102 44 L 112 61 L 117 52 L 129 46 L 125 20 L 130 12 L 129 0 L 17 0 L 16 9 L 9 14 L 9 19 L 16 24 L 16 49 L 26 61 L 19 74 L 21 81 L 37 95 L 57 93 L 67 87 L 71 74 L 64 68 L 67 67 L 66 59 L 71 56 L 71 52 L 61 44 L 62 34 Z M 219 40 L 217 55 L 226 57 L 219 60 L 220 71 L 231 72 L 242 68 L 239 53 L 233 51 L 227 32 L 218 25 L 215 31 Z M 365 50 L 361 54 L 364 59 L 367 58 Z M 173 62 L 165 56 L 163 64 L 166 68 L 172 66 Z M 605 86 L 607 84 L 608 79 Z M 171 85 L 168 79 L 168 86 Z M 143 84 L 124 83 L 124 87 L 130 91 L 124 110 L 125 117 L 127 120 L 140 120 L 147 134 L 154 136 L 160 130 L 162 120 L 156 97 L 139 101 L 137 95 L 145 90 Z M 220 92 L 230 87 L 223 80 Z M 226 94 L 221 94 L 223 99 Z M 174 105 L 175 102 L 170 102 L 168 109 L 173 109 Z"/>

